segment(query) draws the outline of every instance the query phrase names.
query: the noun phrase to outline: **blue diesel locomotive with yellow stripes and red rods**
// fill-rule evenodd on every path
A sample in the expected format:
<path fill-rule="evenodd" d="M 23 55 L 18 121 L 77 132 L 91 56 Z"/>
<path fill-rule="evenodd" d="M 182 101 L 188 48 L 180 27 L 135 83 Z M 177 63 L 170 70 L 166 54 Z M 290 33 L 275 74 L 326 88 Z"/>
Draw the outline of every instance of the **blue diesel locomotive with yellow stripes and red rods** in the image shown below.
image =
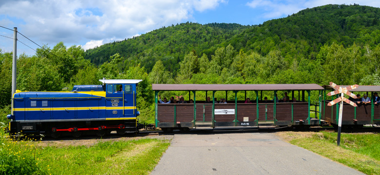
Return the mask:
<path fill-rule="evenodd" d="M 103 136 L 138 131 L 136 87 L 142 80 L 99 80 L 103 85 L 76 85 L 68 92 L 21 92 L 12 98 L 11 134 L 52 137 L 83 133 Z"/>

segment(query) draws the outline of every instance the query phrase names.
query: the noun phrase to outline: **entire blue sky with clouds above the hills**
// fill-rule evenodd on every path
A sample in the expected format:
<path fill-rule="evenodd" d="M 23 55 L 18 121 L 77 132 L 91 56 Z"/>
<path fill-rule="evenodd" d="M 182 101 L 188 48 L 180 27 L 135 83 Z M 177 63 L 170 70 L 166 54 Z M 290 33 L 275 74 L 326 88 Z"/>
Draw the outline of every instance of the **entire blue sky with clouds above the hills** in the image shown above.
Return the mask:
<path fill-rule="evenodd" d="M 0 26 L 39 45 L 91 49 L 182 22 L 262 24 L 326 4 L 380 7 L 374 0 L 0 0 Z M 6 37 L 5 37 L 6 36 Z M 13 31 L 0 28 L 0 49 L 12 52 Z M 38 48 L 23 36 L 19 41 Z M 18 43 L 18 55 L 35 51 Z"/>

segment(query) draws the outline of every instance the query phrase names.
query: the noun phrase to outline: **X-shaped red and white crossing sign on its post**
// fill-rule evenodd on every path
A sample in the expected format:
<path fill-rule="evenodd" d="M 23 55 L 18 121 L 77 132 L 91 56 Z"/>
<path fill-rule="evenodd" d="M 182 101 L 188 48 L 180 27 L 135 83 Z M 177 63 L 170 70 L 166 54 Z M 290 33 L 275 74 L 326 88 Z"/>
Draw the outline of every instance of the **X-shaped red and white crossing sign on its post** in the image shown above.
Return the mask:
<path fill-rule="evenodd" d="M 356 95 L 353 94 L 353 93 L 351 93 L 348 90 L 358 88 L 359 85 L 352 85 L 352 86 L 347 87 L 347 88 L 342 88 L 342 87 L 338 86 L 337 84 L 335 84 L 333 82 L 330 82 L 330 86 L 333 87 L 335 90 L 332 91 L 332 92 L 327 93 L 328 96 L 339 94 L 339 93 L 341 94 L 341 96 L 339 98 L 337 98 L 337 99 L 335 99 L 335 100 L 333 100 L 333 101 L 331 101 L 330 103 L 327 104 L 328 106 L 331 106 L 331 105 L 335 105 L 338 102 L 340 102 L 340 104 L 339 104 L 339 119 L 338 119 L 339 120 L 338 121 L 338 139 L 337 139 L 337 144 L 339 146 L 341 144 L 343 102 L 348 103 L 350 105 L 353 105 L 355 107 L 358 106 L 354 102 L 352 102 L 351 100 L 346 99 L 343 95 L 347 94 L 348 96 L 350 96 L 350 97 L 352 97 L 354 99 L 357 99 Z"/>

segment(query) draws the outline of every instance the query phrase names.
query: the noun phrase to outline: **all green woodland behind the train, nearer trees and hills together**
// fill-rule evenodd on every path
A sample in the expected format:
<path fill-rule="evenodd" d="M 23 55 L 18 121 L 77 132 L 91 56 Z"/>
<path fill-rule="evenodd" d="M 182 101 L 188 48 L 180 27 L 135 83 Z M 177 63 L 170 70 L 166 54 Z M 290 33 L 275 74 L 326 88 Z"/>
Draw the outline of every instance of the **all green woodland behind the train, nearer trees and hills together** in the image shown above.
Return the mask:
<path fill-rule="evenodd" d="M 142 79 L 139 120 L 152 123 L 152 84 L 380 85 L 379 19 L 379 8 L 330 4 L 253 26 L 173 24 L 87 51 L 60 42 L 37 49 L 35 55 L 19 55 L 17 88 L 61 91 L 99 85 L 102 78 Z M 10 112 L 11 69 L 12 53 L 0 50 L 0 122 Z M 189 100 L 187 91 L 162 95 Z M 197 99 L 205 95 L 200 92 Z M 270 92 L 265 95 L 273 98 Z M 255 98 L 251 92 L 248 96 Z M 234 98 L 230 92 L 228 100 Z M 243 100 L 244 93 L 238 98 Z"/>

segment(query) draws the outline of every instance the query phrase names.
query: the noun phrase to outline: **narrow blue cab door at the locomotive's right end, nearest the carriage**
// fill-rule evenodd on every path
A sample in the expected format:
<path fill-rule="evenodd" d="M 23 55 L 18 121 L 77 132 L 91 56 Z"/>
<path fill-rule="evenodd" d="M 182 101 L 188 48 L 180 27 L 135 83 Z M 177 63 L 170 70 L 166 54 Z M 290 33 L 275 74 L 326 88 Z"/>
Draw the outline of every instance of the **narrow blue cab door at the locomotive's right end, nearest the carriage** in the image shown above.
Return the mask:
<path fill-rule="evenodd" d="M 124 85 L 124 115 L 126 117 L 133 117 L 136 109 L 136 91 L 133 85 Z"/>

